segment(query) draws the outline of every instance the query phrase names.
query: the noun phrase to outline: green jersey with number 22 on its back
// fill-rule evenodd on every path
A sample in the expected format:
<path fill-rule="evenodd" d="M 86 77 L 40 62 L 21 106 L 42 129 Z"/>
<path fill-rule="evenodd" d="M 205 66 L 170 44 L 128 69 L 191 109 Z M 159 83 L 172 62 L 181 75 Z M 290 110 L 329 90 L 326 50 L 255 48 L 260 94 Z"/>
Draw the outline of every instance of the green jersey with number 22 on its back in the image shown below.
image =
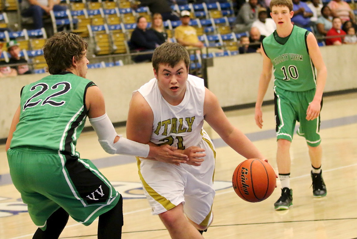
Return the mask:
<path fill-rule="evenodd" d="M 21 90 L 20 121 L 10 148 L 36 146 L 77 155 L 87 117 L 85 93 L 93 82 L 72 73 L 50 75 Z"/>

